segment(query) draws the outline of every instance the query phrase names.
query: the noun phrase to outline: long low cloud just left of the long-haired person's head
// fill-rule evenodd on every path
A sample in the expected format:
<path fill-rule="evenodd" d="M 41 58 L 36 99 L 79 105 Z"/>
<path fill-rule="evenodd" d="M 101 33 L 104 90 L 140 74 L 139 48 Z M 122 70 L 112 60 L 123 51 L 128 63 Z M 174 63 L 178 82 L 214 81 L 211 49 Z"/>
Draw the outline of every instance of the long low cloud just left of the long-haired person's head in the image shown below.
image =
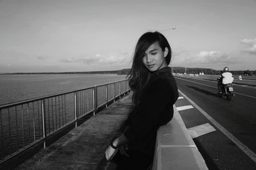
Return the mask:
<path fill-rule="evenodd" d="M 81 56 L 77 58 L 61 59 L 61 63 L 83 63 L 84 65 L 125 65 L 131 58 L 127 52 L 112 53 L 109 55 L 95 54 L 95 56 Z"/>

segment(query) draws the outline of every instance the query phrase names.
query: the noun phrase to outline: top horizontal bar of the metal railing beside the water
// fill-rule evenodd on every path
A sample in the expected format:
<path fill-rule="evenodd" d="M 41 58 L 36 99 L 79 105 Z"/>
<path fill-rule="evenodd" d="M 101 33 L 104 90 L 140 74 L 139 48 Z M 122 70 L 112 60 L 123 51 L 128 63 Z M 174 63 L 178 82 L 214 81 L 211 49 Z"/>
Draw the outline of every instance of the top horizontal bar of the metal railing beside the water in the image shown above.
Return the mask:
<path fill-rule="evenodd" d="M 122 80 L 122 81 L 125 81 L 125 80 Z M 100 86 L 106 86 L 108 84 L 113 84 L 113 83 L 116 83 L 116 82 L 122 82 L 122 81 L 115 81 L 115 82 L 108 82 L 106 84 L 100 84 L 100 85 L 96 85 L 97 87 L 100 87 Z M 15 105 L 21 105 L 21 104 L 26 104 L 26 103 L 30 103 L 30 102 L 35 102 L 37 100 L 43 100 L 44 98 L 51 98 L 51 97 L 56 97 L 56 96 L 59 96 L 59 95 L 67 95 L 69 93 L 74 93 L 76 91 L 82 91 L 82 90 L 86 90 L 86 89 L 92 89 L 92 88 L 95 88 L 95 86 L 92 86 L 92 87 L 88 87 L 88 88 L 84 88 L 84 89 L 72 89 L 70 91 L 63 91 L 63 92 L 60 92 L 60 93 L 54 93 L 54 94 L 51 94 L 51 95 L 44 95 L 44 96 L 40 96 L 40 97 L 35 97 L 35 98 L 29 98 L 29 99 L 26 99 L 26 100 L 19 100 L 17 102 L 9 102 L 9 103 L 4 103 L 4 104 L 1 104 L 0 105 L 0 109 L 5 109 L 7 107 L 13 107 Z"/>

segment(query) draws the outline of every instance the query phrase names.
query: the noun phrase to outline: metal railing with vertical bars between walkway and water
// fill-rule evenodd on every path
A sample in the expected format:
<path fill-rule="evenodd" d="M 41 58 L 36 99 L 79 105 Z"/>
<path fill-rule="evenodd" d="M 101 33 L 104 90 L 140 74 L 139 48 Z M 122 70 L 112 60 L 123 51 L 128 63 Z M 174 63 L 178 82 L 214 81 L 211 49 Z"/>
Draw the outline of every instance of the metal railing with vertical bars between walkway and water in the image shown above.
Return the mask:
<path fill-rule="evenodd" d="M 129 91 L 123 80 L 0 105 L 0 164 Z"/>

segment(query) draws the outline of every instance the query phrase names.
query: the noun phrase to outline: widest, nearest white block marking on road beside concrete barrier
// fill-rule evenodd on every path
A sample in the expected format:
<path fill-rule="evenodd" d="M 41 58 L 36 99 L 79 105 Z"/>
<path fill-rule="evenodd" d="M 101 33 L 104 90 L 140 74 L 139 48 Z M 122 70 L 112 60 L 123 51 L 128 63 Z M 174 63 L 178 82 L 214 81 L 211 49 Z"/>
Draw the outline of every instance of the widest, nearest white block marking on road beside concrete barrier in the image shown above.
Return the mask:
<path fill-rule="evenodd" d="M 208 134 L 210 132 L 214 132 L 216 129 L 212 127 L 209 123 L 205 123 L 203 125 L 199 125 L 196 127 L 188 128 L 189 135 L 192 138 L 198 137 L 200 135 Z"/>

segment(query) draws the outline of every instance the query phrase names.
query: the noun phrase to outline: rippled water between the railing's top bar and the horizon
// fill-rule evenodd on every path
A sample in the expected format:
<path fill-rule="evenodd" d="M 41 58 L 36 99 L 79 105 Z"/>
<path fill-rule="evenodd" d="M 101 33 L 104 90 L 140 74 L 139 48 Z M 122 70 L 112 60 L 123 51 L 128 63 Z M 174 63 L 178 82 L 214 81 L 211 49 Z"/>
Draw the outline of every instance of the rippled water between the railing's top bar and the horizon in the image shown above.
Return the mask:
<path fill-rule="evenodd" d="M 0 75 L 0 104 L 124 79 L 115 74 Z"/>

